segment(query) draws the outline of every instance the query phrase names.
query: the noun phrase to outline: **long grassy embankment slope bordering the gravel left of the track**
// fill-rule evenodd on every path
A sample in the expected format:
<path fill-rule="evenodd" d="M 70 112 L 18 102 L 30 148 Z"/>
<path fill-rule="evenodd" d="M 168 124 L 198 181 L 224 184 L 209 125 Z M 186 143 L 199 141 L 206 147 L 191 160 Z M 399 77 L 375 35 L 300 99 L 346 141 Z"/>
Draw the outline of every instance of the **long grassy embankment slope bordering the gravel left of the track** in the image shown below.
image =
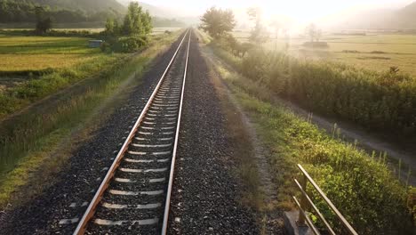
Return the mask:
<path fill-rule="evenodd" d="M 92 132 L 89 129 L 105 121 L 119 105 L 117 99 L 140 83 L 141 74 L 152 59 L 177 36 L 172 34 L 154 41 L 143 53 L 124 58 L 99 77 L 84 81 L 81 93 L 63 93 L 48 108 L 37 109 L 35 113 L 28 110 L 12 120 L 11 126 L 1 126 L 0 208 L 11 202 L 17 206 L 43 190 L 48 182 L 38 181 L 45 181 L 66 165 L 72 147 L 83 139 L 78 134 L 86 129 Z M 21 192 L 25 185 L 31 186 Z"/>

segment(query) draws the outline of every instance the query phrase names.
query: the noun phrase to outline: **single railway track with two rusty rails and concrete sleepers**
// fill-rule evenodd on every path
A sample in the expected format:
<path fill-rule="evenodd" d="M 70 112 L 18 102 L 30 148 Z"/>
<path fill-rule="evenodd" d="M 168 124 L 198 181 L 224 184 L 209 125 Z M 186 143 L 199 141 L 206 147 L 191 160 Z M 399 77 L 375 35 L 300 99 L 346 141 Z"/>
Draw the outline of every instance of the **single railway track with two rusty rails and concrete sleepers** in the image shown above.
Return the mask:
<path fill-rule="evenodd" d="M 187 30 L 74 234 L 165 234 L 188 69 Z"/>

